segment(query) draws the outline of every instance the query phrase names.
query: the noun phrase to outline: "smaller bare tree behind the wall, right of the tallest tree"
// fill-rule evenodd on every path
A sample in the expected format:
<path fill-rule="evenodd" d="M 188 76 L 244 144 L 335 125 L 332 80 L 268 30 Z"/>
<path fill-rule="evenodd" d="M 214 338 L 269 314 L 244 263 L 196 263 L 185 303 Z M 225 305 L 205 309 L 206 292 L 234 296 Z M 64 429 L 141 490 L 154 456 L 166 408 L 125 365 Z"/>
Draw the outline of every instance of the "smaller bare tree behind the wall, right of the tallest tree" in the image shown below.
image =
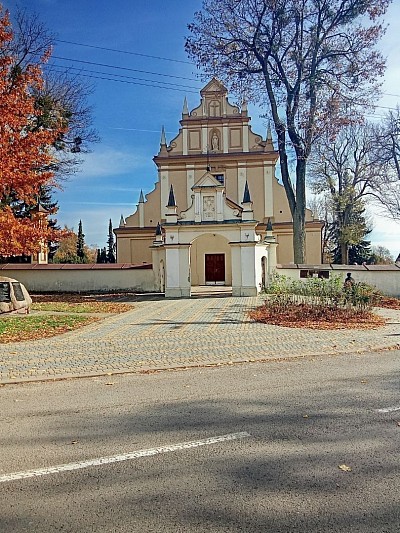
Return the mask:
<path fill-rule="evenodd" d="M 363 215 L 365 206 L 383 205 L 388 187 L 387 164 L 377 157 L 375 127 L 370 124 L 343 127 L 332 141 L 321 135 L 314 144 L 308 165 L 312 191 L 323 195 L 330 210 L 328 223 L 341 262 L 349 260 L 350 246 L 360 243 L 370 231 Z"/>

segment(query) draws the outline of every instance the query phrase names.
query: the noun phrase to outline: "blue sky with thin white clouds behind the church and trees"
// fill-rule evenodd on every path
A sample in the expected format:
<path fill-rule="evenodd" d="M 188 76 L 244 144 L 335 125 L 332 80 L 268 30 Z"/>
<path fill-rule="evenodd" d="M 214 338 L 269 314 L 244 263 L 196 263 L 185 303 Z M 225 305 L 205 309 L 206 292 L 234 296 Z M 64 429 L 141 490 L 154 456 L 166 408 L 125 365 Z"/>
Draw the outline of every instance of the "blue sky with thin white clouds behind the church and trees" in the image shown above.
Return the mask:
<path fill-rule="evenodd" d="M 165 126 L 167 139 L 172 139 L 179 129 L 185 95 L 189 108 L 199 102 L 198 92 L 204 84 L 188 62 L 184 39 L 187 23 L 201 8 L 201 0 L 0 0 L 0 3 L 11 12 L 16 5 L 35 12 L 57 35 L 51 60 L 57 68 L 69 67 L 82 76 L 93 76 L 88 78 L 95 86 L 90 103 L 101 142 L 93 145 L 81 171 L 58 193 L 57 218 L 61 225 L 75 230 L 82 219 L 87 244 L 105 246 L 109 219 L 114 227 L 118 226 L 121 214 L 127 217 L 135 211 L 140 189 L 148 193 L 154 187 L 157 172 L 152 158 L 159 149 L 161 126 Z M 383 88 L 386 94 L 379 104 L 395 107 L 400 102 L 397 0 L 390 7 L 387 20 L 393 24 L 381 43 L 388 69 Z M 120 81 L 104 79 L 115 80 L 115 75 L 125 77 L 118 78 Z M 249 111 L 253 130 L 264 134 L 265 125 L 259 118 L 262 110 L 250 106 Z M 377 114 L 384 111 L 378 108 Z M 398 233 L 399 224 L 374 215 L 373 244 L 382 244 L 397 256 Z"/>

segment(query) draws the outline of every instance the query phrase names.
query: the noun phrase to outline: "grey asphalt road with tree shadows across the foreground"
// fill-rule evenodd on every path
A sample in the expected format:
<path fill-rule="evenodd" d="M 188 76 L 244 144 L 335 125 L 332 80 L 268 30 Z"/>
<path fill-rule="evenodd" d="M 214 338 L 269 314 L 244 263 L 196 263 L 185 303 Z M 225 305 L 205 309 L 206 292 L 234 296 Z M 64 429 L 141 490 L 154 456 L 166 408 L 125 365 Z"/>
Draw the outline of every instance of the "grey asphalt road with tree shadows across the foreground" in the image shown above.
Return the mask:
<path fill-rule="evenodd" d="M 0 531 L 398 533 L 399 357 L 1 387 Z"/>

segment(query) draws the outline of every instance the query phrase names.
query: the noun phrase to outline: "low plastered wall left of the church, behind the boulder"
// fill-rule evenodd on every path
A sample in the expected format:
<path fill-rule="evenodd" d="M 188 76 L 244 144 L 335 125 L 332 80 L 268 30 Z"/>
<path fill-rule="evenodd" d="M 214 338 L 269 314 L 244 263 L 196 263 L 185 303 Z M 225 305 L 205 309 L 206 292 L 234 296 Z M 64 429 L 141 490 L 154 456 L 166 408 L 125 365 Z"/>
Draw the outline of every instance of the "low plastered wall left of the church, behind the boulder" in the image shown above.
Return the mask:
<path fill-rule="evenodd" d="M 7 263 L 0 265 L 0 275 L 17 279 L 30 292 L 157 291 L 150 264 Z"/>

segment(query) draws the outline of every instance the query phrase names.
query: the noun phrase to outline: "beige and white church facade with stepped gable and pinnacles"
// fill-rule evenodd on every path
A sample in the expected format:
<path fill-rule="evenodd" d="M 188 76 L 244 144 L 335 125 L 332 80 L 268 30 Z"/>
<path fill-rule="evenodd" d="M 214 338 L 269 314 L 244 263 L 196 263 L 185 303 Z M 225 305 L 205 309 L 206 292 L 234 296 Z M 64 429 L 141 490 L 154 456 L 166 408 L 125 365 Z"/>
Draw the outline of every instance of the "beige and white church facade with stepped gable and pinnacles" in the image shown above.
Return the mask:
<path fill-rule="evenodd" d="M 231 105 L 212 79 L 200 105 L 186 99 L 178 135 L 164 130 L 154 157 L 155 189 L 114 230 L 118 263 L 151 263 L 166 297 L 189 297 L 197 285 L 229 285 L 255 295 L 277 263 L 293 261 L 292 220 L 275 177 L 270 131 L 253 133 L 246 105 Z M 322 223 L 306 213 L 307 263 L 321 263 Z"/>

